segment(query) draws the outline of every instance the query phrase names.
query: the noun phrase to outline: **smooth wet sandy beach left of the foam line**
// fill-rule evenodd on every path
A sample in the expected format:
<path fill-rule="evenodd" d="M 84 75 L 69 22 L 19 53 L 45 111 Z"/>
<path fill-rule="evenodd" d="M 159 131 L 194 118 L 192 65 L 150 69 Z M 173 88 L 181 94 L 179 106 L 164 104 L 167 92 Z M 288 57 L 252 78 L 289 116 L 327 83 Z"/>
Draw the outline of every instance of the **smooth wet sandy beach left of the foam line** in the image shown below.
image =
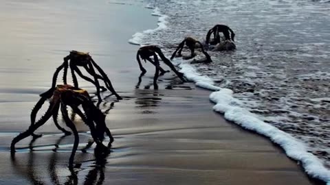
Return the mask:
<path fill-rule="evenodd" d="M 210 91 L 180 84 L 173 73 L 159 77 L 154 90 L 149 64 L 139 83 L 138 46 L 128 40 L 155 27 L 151 10 L 107 1 L 2 3 L 0 184 L 322 184 L 270 140 L 213 112 Z M 111 153 L 98 155 L 95 145 L 78 151 L 75 163 L 81 167 L 69 171 L 74 138 L 63 137 L 48 121 L 32 150 L 27 138 L 10 158 L 10 141 L 30 125 L 39 93 L 50 87 L 70 50 L 89 51 L 124 97 L 100 104 L 115 137 Z M 94 92 L 91 84 L 80 83 Z M 83 147 L 91 136 L 78 117 L 75 123 Z"/>

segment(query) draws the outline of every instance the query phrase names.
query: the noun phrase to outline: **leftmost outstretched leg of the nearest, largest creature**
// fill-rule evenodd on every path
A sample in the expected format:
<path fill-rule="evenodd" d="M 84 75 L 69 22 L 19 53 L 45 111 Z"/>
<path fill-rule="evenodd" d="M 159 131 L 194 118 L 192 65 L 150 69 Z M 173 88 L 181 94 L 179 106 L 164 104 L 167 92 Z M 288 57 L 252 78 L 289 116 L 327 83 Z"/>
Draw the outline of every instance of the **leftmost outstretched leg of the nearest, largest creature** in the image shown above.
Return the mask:
<path fill-rule="evenodd" d="M 28 136 L 32 135 L 33 132 L 36 129 L 38 129 L 39 127 L 41 127 L 41 125 L 45 124 L 46 121 L 48 119 L 50 119 L 50 117 L 52 116 L 52 110 L 53 110 L 53 103 L 50 103 L 50 107 L 46 111 L 45 115 L 41 116 L 41 119 L 39 119 L 39 121 L 37 121 L 34 125 L 30 125 L 30 127 L 28 128 L 28 130 L 26 130 L 25 132 L 22 132 L 21 134 L 19 134 L 18 136 L 16 136 L 12 140 L 12 144 L 10 145 L 10 152 L 14 153 L 15 152 L 15 144 L 16 143 L 18 143 L 20 140 L 22 140 L 24 138 L 27 138 Z"/>

